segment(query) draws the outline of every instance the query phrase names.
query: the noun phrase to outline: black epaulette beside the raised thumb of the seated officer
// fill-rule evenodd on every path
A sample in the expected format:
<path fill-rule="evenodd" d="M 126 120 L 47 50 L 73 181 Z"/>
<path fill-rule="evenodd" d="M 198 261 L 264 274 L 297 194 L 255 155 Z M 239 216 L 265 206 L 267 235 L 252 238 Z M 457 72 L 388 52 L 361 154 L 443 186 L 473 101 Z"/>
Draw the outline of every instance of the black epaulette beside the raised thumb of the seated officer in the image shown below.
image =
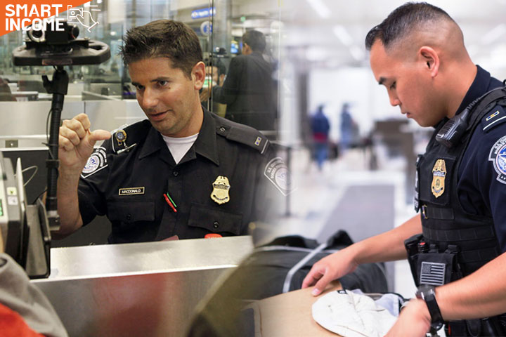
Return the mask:
<path fill-rule="evenodd" d="M 144 119 L 134 124 L 120 126 L 114 131 L 111 131 L 111 150 L 116 154 L 128 152 L 133 147 L 137 146 L 146 136 L 150 130 L 150 121 Z"/>

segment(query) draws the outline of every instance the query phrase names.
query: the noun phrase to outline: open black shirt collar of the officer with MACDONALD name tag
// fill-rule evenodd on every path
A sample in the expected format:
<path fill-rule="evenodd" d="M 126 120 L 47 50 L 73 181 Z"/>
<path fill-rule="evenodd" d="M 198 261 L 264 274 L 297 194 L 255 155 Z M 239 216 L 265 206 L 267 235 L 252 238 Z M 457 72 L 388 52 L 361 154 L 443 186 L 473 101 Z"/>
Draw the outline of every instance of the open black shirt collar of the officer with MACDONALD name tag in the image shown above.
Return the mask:
<path fill-rule="evenodd" d="M 205 107 L 202 107 L 202 110 L 204 112 L 204 121 L 202 121 L 202 127 L 200 128 L 197 140 L 195 140 L 195 144 L 193 144 L 193 147 L 188 152 L 192 152 L 195 149 L 194 151 L 197 154 L 219 165 L 218 147 L 216 145 L 216 123 L 211 112 L 207 111 Z M 143 159 L 164 148 L 167 148 L 167 145 L 164 143 L 162 135 L 152 126 L 144 142 L 139 159 Z M 183 164 L 186 161 L 185 159 L 186 155 L 181 159 L 180 164 Z"/>

